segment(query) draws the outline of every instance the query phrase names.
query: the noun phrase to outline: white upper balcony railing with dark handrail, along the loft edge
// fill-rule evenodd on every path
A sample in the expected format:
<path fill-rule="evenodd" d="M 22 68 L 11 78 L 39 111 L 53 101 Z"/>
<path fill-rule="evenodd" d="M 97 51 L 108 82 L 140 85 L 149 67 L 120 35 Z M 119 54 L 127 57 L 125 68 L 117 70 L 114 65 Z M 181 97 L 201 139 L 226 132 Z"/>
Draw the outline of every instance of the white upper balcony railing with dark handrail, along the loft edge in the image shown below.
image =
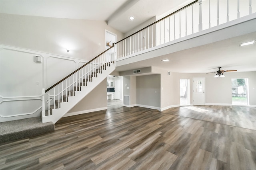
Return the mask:
<path fill-rule="evenodd" d="M 116 59 L 256 12 L 256 0 L 196 0 L 115 43 Z"/>

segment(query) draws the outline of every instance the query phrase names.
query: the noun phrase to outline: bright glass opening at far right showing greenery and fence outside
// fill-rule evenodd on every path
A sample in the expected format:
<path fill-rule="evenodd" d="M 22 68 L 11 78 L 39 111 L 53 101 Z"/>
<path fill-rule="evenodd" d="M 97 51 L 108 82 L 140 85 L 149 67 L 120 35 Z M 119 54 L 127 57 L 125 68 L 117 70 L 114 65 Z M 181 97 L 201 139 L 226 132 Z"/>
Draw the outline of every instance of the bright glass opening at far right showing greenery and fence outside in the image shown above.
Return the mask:
<path fill-rule="evenodd" d="M 248 78 L 232 78 L 232 105 L 247 106 L 248 98 Z"/>

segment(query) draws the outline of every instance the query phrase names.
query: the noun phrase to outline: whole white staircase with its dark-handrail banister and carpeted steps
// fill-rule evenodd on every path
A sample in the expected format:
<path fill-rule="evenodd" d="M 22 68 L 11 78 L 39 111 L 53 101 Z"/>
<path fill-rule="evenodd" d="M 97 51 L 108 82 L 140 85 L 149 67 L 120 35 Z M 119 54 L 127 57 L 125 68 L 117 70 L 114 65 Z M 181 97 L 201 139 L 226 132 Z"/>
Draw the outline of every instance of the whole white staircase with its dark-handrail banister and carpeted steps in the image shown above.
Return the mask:
<path fill-rule="evenodd" d="M 108 50 L 47 90 L 43 88 L 42 123 L 56 123 L 115 70 L 114 53 L 107 54 Z"/>

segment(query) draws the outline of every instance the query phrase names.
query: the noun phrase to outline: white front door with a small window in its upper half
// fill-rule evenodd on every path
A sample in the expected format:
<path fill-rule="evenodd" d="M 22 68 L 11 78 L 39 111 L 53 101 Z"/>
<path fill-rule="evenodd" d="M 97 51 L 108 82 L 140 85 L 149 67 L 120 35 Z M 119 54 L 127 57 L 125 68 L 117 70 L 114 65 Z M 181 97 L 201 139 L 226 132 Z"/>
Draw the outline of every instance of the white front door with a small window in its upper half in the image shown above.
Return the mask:
<path fill-rule="evenodd" d="M 193 105 L 204 105 L 204 78 L 193 78 Z"/>

